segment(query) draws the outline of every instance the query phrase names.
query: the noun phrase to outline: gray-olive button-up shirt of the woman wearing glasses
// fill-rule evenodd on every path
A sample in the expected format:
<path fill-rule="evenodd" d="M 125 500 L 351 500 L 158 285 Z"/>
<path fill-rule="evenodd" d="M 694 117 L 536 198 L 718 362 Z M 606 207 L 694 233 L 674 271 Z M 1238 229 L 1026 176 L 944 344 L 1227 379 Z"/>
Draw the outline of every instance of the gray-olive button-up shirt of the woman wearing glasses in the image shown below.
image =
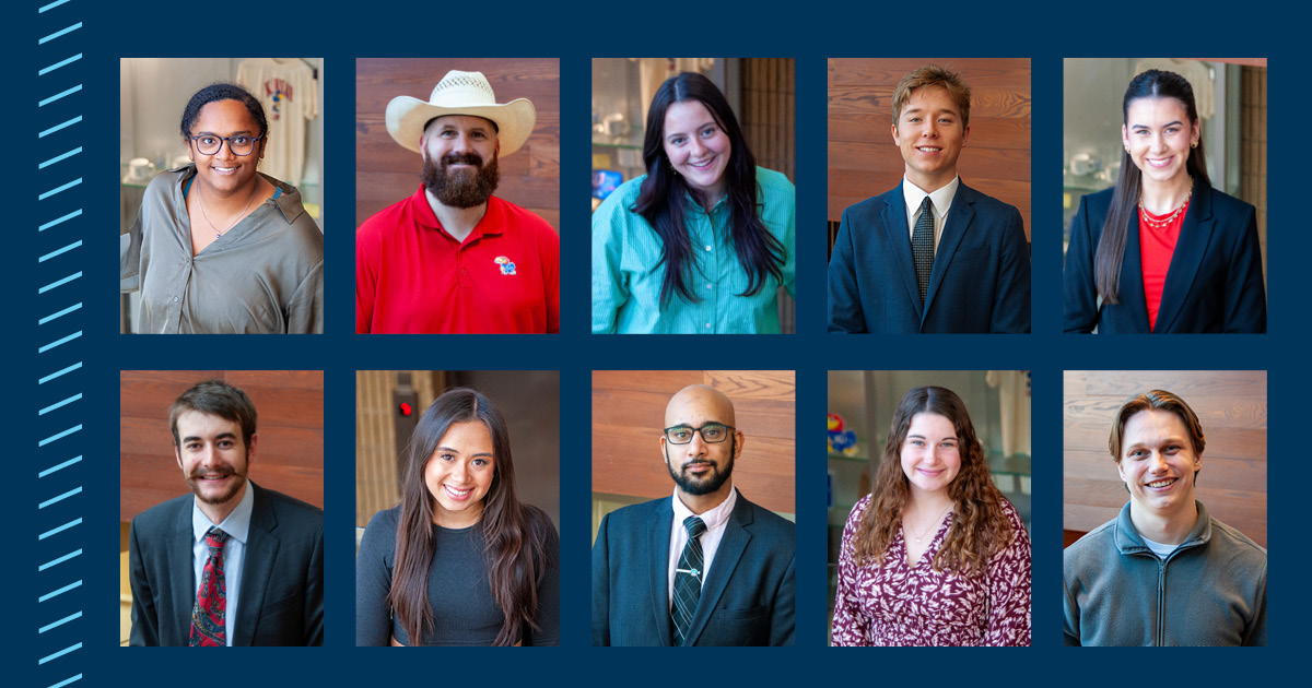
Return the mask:
<path fill-rule="evenodd" d="M 195 165 L 161 172 L 119 237 L 119 288 L 142 292 L 138 332 L 321 333 L 324 237 L 291 185 L 192 256 L 182 187 Z"/>

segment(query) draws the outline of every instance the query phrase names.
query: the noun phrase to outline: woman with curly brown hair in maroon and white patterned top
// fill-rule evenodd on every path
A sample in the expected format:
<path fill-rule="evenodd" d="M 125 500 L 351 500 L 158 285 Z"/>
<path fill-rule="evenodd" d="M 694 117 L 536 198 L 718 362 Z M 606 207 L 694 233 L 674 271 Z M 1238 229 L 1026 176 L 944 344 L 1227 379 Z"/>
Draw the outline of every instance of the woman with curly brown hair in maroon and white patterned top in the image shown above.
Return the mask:
<path fill-rule="evenodd" d="M 966 404 L 918 387 L 842 533 L 834 645 L 1030 645 L 1030 537 Z"/>

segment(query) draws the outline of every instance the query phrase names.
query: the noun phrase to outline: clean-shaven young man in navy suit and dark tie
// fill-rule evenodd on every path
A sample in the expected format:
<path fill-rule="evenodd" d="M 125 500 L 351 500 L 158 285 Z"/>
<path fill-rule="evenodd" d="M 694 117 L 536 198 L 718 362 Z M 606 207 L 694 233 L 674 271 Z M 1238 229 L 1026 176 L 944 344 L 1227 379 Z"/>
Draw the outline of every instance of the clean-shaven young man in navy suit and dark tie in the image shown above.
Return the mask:
<path fill-rule="evenodd" d="M 849 207 L 829 259 L 830 333 L 1027 333 L 1021 214 L 962 183 L 971 89 L 921 67 L 893 90 L 903 183 Z"/>

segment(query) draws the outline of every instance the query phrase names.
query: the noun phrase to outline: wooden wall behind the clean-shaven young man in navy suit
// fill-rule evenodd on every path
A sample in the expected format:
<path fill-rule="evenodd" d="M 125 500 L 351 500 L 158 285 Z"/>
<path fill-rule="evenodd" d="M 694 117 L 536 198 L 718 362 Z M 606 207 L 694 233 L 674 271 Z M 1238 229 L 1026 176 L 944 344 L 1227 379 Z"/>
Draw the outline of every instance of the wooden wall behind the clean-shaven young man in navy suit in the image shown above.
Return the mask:
<path fill-rule="evenodd" d="M 970 187 L 1015 206 L 1030 235 L 1030 60 L 830 59 L 829 221 L 848 206 L 901 182 L 892 140 L 892 93 L 925 64 L 943 64 L 971 86 L 971 132 L 958 172 Z"/>

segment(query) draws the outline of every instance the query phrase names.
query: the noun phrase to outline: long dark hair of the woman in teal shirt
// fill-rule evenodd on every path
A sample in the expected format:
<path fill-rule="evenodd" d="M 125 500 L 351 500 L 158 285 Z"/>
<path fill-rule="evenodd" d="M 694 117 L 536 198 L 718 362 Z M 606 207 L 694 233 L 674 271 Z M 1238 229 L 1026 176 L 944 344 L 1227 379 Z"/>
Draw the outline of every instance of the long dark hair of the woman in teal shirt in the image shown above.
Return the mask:
<path fill-rule="evenodd" d="M 686 101 L 705 105 L 715 118 L 715 123 L 729 138 L 729 162 L 724 168 L 728 190 L 726 201 L 729 204 L 729 245 L 733 246 L 739 263 L 748 274 L 747 290 L 739 296 L 753 296 L 765 288 L 766 275 L 782 279 L 782 265 L 787 257 L 783 242 L 766 231 L 757 212 L 756 156 L 747 147 L 729 102 L 710 79 L 699 73 L 682 72 L 672 76 L 656 89 L 647 113 L 647 136 L 643 140 L 647 178 L 643 180 L 638 201 L 630 208 L 647 219 L 661 240 L 661 258 L 656 265 L 665 263 L 665 278 L 660 288 L 663 307 L 676 294 L 689 303 L 702 300 L 687 286 L 697 263 L 693 239 L 684 227 L 687 185 L 672 169 L 663 143 L 666 110 L 676 102 Z"/>

